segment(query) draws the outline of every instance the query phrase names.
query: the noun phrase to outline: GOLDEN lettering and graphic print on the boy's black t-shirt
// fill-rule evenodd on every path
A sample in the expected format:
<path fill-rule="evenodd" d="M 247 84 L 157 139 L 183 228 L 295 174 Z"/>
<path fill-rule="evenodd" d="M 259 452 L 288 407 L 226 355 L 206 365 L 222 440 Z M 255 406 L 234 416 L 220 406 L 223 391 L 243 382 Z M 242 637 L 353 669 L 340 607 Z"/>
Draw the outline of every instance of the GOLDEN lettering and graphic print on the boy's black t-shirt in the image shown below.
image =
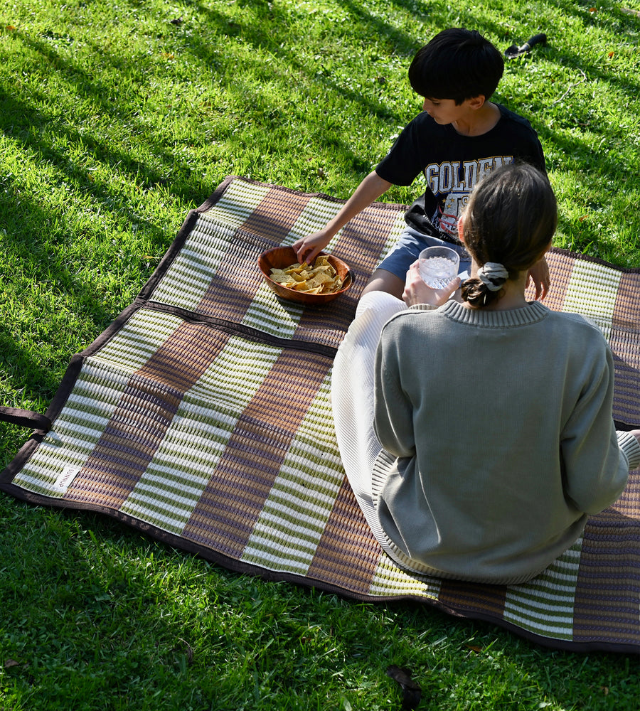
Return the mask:
<path fill-rule="evenodd" d="M 432 223 L 441 232 L 457 237 L 458 218 L 469 201 L 469 194 L 484 176 L 496 168 L 513 163 L 513 156 L 493 156 L 474 161 L 444 161 L 425 168 L 427 185 L 438 201 Z"/>

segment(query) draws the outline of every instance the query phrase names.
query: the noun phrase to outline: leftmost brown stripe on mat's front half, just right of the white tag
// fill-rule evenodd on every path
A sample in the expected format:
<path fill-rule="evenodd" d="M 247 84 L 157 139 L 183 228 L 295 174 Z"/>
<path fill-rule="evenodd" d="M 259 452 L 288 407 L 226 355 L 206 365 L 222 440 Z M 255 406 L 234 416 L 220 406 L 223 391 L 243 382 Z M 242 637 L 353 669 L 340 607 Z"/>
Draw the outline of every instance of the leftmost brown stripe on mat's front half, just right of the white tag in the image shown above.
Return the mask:
<path fill-rule="evenodd" d="M 198 382 L 228 338 L 201 324 L 178 326 L 129 379 L 65 499 L 122 506 L 164 439 L 184 393 Z"/>

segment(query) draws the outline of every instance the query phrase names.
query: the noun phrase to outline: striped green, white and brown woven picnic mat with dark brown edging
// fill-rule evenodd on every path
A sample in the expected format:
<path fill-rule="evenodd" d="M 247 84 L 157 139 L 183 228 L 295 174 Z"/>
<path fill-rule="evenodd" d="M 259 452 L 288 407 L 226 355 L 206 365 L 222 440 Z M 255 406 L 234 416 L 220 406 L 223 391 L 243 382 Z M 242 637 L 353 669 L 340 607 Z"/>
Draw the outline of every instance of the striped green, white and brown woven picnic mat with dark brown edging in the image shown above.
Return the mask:
<path fill-rule="evenodd" d="M 232 570 L 420 601 L 555 648 L 640 651 L 640 471 L 526 584 L 439 580 L 383 554 L 345 479 L 329 392 L 336 348 L 404 207 L 374 203 L 338 232 L 328 251 L 355 286 L 322 308 L 279 301 L 257 270 L 260 252 L 314 232 L 341 205 L 223 181 L 134 303 L 73 355 L 46 415 L 4 412 L 33 433 L 2 490 L 101 511 Z M 616 363 L 614 417 L 640 423 L 640 269 L 559 250 L 548 261 L 548 305 L 599 324 Z"/>

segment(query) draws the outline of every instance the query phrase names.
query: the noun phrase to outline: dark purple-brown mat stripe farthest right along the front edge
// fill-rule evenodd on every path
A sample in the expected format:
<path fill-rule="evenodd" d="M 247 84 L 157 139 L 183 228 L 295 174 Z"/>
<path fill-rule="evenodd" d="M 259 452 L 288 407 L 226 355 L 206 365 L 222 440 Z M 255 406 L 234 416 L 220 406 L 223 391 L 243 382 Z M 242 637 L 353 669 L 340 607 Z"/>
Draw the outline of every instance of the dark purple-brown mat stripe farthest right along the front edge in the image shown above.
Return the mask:
<path fill-rule="evenodd" d="M 638 526 L 612 509 L 590 518 L 582 538 L 574 604 L 574 641 L 639 643 Z M 628 519 L 627 519 L 628 520 Z M 629 631 L 635 629 L 635 638 Z"/>

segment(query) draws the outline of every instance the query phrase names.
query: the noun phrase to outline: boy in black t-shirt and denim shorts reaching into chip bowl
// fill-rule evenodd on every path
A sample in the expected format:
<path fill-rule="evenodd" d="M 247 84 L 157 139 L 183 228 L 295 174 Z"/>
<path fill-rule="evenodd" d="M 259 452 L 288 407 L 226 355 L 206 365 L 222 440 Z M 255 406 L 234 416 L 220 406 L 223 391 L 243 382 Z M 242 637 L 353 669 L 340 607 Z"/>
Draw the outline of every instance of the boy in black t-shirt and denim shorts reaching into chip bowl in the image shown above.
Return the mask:
<path fill-rule="evenodd" d="M 425 194 L 405 214 L 398 245 L 380 262 L 363 294 L 384 291 L 400 299 L 405 275 L 426 247 L 445 245 L 469 256 L 457 220 L 475 184 L 504 163 L 525 161 L 546 174 L 542 146 L 530 123 L 490 102 L 504 71 L 501 53 L 479 32 L 449 28 L 418 51 L 409 80 L 424 97 L 422 113 L 405 127 L 388 155 L 360 183 L 323 230 L 294 242 L 298 260 L 312 262 L 336 232 L 392 185 L 409 186 L 419 173 Z M 543 258 L 530 269 L 535 297 L 544 298 L 549 271 Z"/>

